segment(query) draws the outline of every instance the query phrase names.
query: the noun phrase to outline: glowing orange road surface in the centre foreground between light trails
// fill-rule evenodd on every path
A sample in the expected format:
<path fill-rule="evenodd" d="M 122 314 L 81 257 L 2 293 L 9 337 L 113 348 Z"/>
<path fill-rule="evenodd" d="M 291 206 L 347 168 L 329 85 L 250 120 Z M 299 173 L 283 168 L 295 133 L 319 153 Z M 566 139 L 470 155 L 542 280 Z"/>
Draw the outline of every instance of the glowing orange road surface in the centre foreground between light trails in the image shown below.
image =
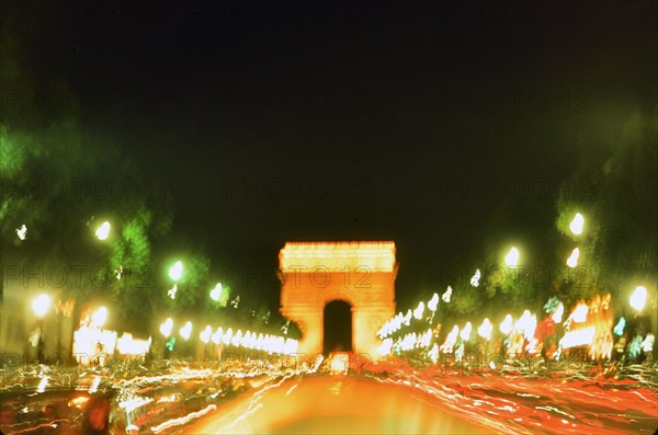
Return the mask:
<path fill-rule="evenodd" d="M 345 376 L 296 377 L 208 413 L 182 434 L 487 434 L 413 389 Z"/>

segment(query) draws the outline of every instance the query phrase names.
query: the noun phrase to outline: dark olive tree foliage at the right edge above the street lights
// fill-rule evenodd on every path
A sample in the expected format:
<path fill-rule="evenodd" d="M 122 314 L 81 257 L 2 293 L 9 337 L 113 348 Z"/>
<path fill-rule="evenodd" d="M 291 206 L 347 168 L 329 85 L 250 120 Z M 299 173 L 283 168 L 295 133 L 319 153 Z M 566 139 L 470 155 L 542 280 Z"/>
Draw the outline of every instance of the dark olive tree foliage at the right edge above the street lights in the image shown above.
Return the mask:
<path fill-rule="evenodd" d="M 591 144 L 587 137 L 580 144 L 579 168 L 564 183 L 556 203 L 556 227 L 571 243 L 578 243 L 579 264 L 586 266 L 576 279 L 578 273 L 556 282 L 557 290 L 571 299 L 608 290 L 625 299 L 624 290 L 632 281 L 656 279 L 656 108 L 654 113 L 635 111 L 609 144 Z M 574 236 L 569 229 L 576 211 L 585 216 L 581 236 Z M 586 285 L 580 285 L 586 278 Z"/>

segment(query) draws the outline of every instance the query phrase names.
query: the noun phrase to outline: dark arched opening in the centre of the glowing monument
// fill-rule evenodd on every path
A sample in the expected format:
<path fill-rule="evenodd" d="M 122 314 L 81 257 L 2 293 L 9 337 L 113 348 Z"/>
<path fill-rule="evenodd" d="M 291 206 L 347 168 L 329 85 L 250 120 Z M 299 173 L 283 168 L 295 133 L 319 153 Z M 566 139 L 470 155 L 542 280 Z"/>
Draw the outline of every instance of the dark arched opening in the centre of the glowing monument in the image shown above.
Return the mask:
<path fill-rule="evenodd" d="M 332 300 L 324 310 L 325 355 L 330 352 L 352 352 L 352 306 L 344 300 Z"/>

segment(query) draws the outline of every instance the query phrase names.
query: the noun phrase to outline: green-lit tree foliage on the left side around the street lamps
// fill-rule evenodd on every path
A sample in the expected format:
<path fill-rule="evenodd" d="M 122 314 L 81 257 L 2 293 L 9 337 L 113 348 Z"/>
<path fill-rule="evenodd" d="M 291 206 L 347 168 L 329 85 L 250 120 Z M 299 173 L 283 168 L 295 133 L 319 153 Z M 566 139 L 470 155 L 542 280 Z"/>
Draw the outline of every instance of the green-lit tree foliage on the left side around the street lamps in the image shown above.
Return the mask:
<path fill-rule="evenodd" d="M 1 34 L 0 81 L 11 95 L 0 119 L 2 265 L 60 268 L 58 287 L 77 308 L 102 299 L 120 308 L 113 317 L 144 317 L 156 308 L 149 266 L 154 240 L 171 226 L 170 196 L 151 180 L 139 185 L 132 158 L 81 125 L 64 81 L 33 70 L 25 47 L 43 30 L 15 19 L 3 19 Z M 111 236 L 100 241 L 105 219 Z"/>

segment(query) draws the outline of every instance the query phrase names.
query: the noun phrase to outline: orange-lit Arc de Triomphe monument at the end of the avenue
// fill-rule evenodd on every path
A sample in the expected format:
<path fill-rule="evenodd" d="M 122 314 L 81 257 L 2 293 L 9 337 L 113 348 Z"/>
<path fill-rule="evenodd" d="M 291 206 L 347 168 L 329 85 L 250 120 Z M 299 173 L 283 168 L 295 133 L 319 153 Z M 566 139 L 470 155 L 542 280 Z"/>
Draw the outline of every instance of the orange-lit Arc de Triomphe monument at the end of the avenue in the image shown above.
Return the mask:
<path fill-rule="evenodd" d="M 351 348 L 377 356 L 377 331 L 395 314 L 395 243 L 287 242 L 279 253 L 281 313 L 302 330 L 299 353 L 321 353 L 325 307 L 350 305 Z"/>

